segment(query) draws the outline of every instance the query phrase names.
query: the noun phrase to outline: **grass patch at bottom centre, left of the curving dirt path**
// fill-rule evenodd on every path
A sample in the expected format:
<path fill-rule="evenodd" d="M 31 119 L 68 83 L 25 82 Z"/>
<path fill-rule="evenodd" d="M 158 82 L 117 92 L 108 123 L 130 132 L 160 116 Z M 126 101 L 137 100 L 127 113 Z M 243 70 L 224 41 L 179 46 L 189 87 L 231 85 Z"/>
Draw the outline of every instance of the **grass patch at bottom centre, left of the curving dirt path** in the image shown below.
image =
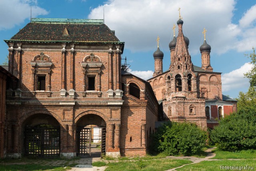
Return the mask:
<path fill-rule="evenodd" d="M 179 167 L 192 163 L 188 160 L 176 159 L 151 159 L 136 161 L 120 161 L 118 163 L 108 163 L 105 171 L 165 171 L 174 167 Z M 104 163 L 92 163 L 94 166 L 103 166 Z"/>

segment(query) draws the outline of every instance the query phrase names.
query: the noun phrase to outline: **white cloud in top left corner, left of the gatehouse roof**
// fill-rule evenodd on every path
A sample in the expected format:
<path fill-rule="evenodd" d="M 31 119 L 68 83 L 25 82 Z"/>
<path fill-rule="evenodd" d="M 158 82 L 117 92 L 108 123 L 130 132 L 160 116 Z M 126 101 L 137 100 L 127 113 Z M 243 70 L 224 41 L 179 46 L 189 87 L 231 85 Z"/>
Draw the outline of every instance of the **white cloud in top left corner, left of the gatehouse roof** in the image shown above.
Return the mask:
<path fill-rule="evenodd" d="M 30 18 L 46 15 L 48 11 L 39 7 L 36 0 L 1 0 L 0 1 L 0 30 L 13 28 Z"/>

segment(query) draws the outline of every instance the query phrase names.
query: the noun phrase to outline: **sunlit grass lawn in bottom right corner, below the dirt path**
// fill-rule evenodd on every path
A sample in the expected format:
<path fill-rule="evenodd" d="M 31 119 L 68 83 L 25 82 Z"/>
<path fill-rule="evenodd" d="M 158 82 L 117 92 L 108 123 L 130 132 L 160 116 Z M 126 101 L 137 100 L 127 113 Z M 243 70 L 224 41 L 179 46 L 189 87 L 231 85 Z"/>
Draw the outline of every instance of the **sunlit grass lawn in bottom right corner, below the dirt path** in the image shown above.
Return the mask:
<path fill-rule="evenodd" d="M 221 166 L 226 167 L 234 167 L 238 166 L 237 169 L 224 169 Z M 176 169 L 177 171 L 223 171 L 223 170 L 241 170 L 239 167 L 246 167 L 246 165 L 250 167 L 254 167 L 253 169 L 248 170 L 254 170 L 256 169 L 256 160 L 253 159 L 245 159 L 245 160 L 222 160 L 222 161 L 202 161 L 200 163 L 192 164 L 192 165 L 186 165 L 182 168 Z M 246 169 L 242 169 L 246 170 Z"/>

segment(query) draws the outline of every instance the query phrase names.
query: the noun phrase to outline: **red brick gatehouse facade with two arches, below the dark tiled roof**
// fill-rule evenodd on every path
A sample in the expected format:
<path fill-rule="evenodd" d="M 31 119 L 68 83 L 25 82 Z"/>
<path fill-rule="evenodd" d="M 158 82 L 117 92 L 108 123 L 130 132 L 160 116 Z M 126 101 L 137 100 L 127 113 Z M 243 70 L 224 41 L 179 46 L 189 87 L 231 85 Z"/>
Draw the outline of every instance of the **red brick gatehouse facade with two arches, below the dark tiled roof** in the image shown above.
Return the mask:
<path fill-rule="evenodd" d="M 6 100 L 8 157 L 24 153 L 25 127 L 40 124 L 60 127 L 63 156 L 76 156 L 76 130 L 91 124 L 106 127 L 106 155 L 146 154 L 158 103 L 148 82 L 121 75 L 123 42 L 7 43 L 9 71 L 20 80 Z"/>

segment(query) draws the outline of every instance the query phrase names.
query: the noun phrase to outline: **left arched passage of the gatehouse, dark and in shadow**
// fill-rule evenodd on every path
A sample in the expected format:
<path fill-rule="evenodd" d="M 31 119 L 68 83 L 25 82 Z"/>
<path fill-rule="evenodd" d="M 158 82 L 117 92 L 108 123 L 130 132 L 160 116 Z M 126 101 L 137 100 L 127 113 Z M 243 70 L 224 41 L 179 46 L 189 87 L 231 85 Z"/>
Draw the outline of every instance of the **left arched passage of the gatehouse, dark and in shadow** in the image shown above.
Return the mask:
<path fill-rule="evenodd" d="M 45 113 L 30 115 L 22 125 L 26 156 L 60 156 L 60 124 L 52 115 Z"/>

